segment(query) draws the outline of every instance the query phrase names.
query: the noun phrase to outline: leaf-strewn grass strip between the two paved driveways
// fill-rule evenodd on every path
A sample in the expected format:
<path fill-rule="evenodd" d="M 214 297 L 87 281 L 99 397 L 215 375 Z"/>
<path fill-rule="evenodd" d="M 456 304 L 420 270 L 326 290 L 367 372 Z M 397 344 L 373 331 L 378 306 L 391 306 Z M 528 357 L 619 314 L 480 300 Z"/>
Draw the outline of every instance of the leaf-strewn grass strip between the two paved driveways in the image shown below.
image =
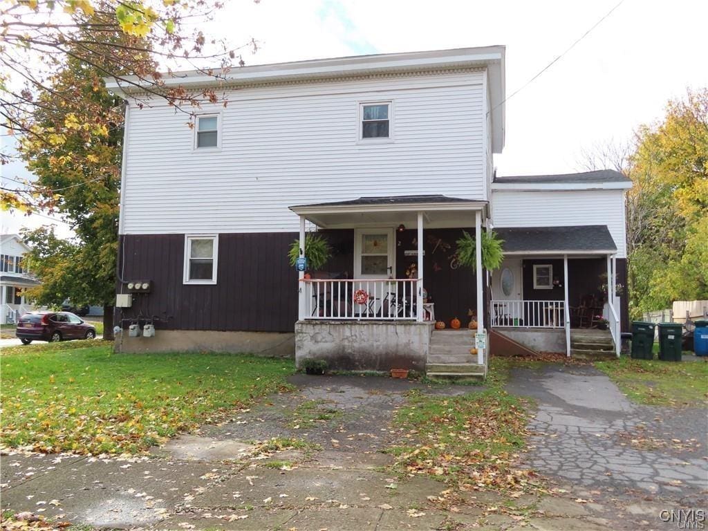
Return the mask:
<path fill-rule="evenodd" d="M 394 418 L 394 428 L 406 432 L 404 442 L 389 450 L 396 456 L 394 469 L 456 481 L 462 489 L 524 490 L 535 484 L 532 472 L 513 467 L 525 447 L 532 404 L 504 391 L 511 363 L 492 358 L 483 390 L 452 397 L 409 393 Z"/>

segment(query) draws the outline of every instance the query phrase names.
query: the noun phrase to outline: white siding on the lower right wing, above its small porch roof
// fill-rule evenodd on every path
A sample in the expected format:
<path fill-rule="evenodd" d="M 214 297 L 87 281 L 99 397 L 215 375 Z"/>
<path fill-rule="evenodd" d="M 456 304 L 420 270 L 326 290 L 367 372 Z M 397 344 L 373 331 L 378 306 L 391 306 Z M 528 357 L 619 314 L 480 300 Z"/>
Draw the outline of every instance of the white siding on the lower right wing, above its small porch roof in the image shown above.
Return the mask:
<path fill-rule="evenodd" d="M 617 258 L 627 257 L 624 190 L 494 190 L 491 211 L 500 228 L 607 225 Z"/>

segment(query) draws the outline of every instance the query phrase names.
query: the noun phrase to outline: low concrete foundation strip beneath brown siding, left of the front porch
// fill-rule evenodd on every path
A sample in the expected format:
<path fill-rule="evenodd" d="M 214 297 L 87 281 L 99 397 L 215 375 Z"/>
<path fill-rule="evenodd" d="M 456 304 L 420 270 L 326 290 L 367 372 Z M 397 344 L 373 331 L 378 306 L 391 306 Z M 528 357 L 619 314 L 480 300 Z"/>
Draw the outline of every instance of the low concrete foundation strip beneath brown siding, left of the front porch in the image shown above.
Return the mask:
<path fill-rule="evenodd" d="M 295 334 L 278 332 L 224 332 L 209 330 L 157 330 L 152 338 L 128 336 L 124 330 L 115 338 L 115 351 L 233 352 L 273 358 L 295 356 Z"/>

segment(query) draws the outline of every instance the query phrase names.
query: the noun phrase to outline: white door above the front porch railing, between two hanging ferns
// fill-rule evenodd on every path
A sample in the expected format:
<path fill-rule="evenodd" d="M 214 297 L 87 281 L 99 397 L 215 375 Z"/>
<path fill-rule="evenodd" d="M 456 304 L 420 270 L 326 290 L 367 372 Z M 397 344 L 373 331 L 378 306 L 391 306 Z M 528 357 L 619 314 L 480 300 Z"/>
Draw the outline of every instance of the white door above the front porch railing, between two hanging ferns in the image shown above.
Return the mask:
<path fill-rule="evenodd" d="M 354 278 L 394 278 L 394 229 L 354 230 Z"/>

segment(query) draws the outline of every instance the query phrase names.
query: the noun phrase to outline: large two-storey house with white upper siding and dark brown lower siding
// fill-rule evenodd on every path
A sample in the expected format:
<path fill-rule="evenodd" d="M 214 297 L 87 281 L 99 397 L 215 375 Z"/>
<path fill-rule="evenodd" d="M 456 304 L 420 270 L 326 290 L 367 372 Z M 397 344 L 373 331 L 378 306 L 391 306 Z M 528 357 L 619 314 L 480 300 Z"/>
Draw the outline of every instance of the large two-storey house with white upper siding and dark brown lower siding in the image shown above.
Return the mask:
<path fill-rule="evenodd" d="M 443 334 L 432 333 L 434 321 L 449 328 L 457 318 L 467 329 L 473 315 L 479 334 L 493 324 L 528 328 L 523 302 L 496 302 L 525 295 L 545 301 L 538 328 L 570 329 L 569 295 L 554 289 L 566 284 L 556 282 L 564 259 L 600 256 L 600 273 L 609 265 L 611 276 L 623 268 L 624 225 L 615 222 L 629 185 L 610 173 L 597 176 L 610 183 L 494 178 L 504 54 L 491 46 L 243 67 L 218 84 L 227 105 L 202 105 L 191 124 L 159 99 L 137 105 L 144 94 L 108 80 L 127 101 L 118 348 L 295 352 L 298 363 L 422 371 Z M 217 81 L 192 72 L 166 84 L 200 91 Z M 519 239 L 518 229 L 556 227 L 555 242 L 578 226 L 595 227 L 588 241 L 610 237 L 588 249 L 583 234 L 570 248 L 544 247 L 541 234 L 526 249 L 521 236 L 509 249 L 506 287 L 509 275 L 522 280 L 527 258 L 553 259 L 529 262 L 553 265 L 536 268 L 551 286 L 543 299 L 546 288 L 495 286 L 501 274 L 481 267 L 480 252 L 476 270 L 455 259 L 463 230 L 479 239 L 499 227 Z M 297 270 L 290 246 L 304 251 L 315 233 L 331 256 L 318 270 L 306 261 Z M 154 336 L 135 336 L 145 324 Z M 484 373 L 489 341 L 479 341 L 470 350 L 464 333 L 464 360 L 452 361 Z"/>

